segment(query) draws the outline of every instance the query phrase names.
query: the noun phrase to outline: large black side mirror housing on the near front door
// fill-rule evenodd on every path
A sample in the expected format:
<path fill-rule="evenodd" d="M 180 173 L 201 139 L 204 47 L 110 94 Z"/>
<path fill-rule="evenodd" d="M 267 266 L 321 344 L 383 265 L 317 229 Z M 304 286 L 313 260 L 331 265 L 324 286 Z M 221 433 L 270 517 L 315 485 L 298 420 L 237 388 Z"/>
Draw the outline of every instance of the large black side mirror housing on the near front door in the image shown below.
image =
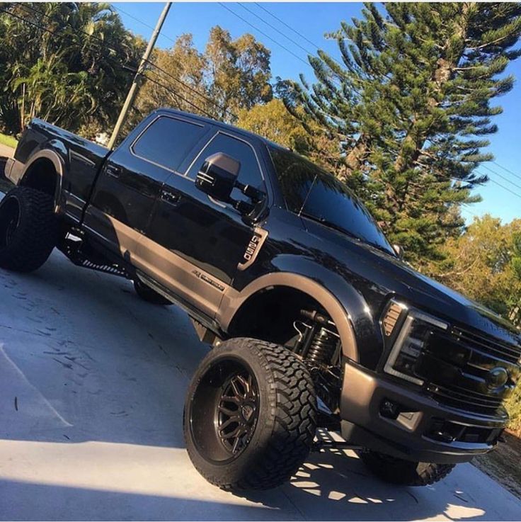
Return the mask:
<path fill-rule="evenodd" d="M 195 186 L 212 198 L 228 203 L 234 190 L 241 164 L 223 152 L 207 157 L 195 177 Z"/>

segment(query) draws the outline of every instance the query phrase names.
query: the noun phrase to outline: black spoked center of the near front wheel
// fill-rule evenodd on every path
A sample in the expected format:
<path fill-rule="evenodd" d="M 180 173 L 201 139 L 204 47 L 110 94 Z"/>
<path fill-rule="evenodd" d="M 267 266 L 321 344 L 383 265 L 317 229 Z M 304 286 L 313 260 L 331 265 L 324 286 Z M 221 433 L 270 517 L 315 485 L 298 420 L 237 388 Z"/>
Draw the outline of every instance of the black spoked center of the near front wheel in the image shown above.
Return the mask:
<path fill-rule="evenodd" d="M 217 436 L 231 455 L 248 446 L 258 418 L 258 390 L 247 370 L 235 373 L 225 382 L 217 405 Z"/>

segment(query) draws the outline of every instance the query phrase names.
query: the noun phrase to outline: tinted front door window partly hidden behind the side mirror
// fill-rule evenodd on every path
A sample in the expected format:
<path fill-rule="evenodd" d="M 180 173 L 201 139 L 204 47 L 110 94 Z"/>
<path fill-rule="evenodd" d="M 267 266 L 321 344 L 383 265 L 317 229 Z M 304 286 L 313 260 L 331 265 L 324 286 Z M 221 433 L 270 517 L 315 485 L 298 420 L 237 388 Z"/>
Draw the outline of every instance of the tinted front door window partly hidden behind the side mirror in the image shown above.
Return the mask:
<path fill-rule="evenodd" d="M 210 143 L 202 149 L 202 152 L 199 154 L 195 162 L 190 166 L 187 176 L 190 179 L 195 179 L 195 176 L 197 176 L 197 172 L 200 171 L 205 159 L 216 152 L 224 152 L 224 154 L 228 154 L 228 156 L 231 156 L 240 162 L 241 169 L 239 170 L 239 176 L 237 179 L 241 183 L 265 191 L 263 176 L 260 174 L 258 161 L 251 146 L 246 142 L 236 140 L 236 138 L 225 134 L 217 134 Z M 231 193 L 231 196 L 236 200 L 249 201 L 248 198 L 236 188 Z"/>

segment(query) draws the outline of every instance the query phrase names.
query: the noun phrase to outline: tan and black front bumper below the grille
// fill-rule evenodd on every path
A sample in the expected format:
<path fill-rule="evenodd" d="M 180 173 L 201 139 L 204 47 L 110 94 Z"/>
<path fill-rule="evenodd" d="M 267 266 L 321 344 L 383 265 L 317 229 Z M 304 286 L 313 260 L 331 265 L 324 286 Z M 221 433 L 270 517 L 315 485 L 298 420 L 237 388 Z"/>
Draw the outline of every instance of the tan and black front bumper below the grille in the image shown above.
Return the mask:
<path fill-rule="evenodd" d="M 398 407 L 395 418 L 389 404 Z M 506 412 L 483 416 L 443 406 L 352 362 L 345 363 L 340 415 L 346 441 L 430 463 L 462 463 L 487 453 L 508 421 Z"/>

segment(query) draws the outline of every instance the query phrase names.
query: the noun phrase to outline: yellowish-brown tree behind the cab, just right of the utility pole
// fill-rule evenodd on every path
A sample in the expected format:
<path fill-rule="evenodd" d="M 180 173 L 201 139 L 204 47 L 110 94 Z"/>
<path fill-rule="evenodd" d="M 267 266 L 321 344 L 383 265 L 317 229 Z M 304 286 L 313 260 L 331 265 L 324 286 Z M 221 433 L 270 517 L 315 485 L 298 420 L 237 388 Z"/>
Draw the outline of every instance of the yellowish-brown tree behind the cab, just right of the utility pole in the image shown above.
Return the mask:
<path fill-rule="evenodd" d="M 233 122 L 239 109 L 272 98 L 270 51 L 249 34 L 232 40 L 216 25 L 204 52 L 195 48 L 192 35 L 185 34 L 171 49 L 156 50 L 152 61 L 162 71 L 149 68 L 152 81 L 139 92 L 134 118 L 169 106 Z"/>

